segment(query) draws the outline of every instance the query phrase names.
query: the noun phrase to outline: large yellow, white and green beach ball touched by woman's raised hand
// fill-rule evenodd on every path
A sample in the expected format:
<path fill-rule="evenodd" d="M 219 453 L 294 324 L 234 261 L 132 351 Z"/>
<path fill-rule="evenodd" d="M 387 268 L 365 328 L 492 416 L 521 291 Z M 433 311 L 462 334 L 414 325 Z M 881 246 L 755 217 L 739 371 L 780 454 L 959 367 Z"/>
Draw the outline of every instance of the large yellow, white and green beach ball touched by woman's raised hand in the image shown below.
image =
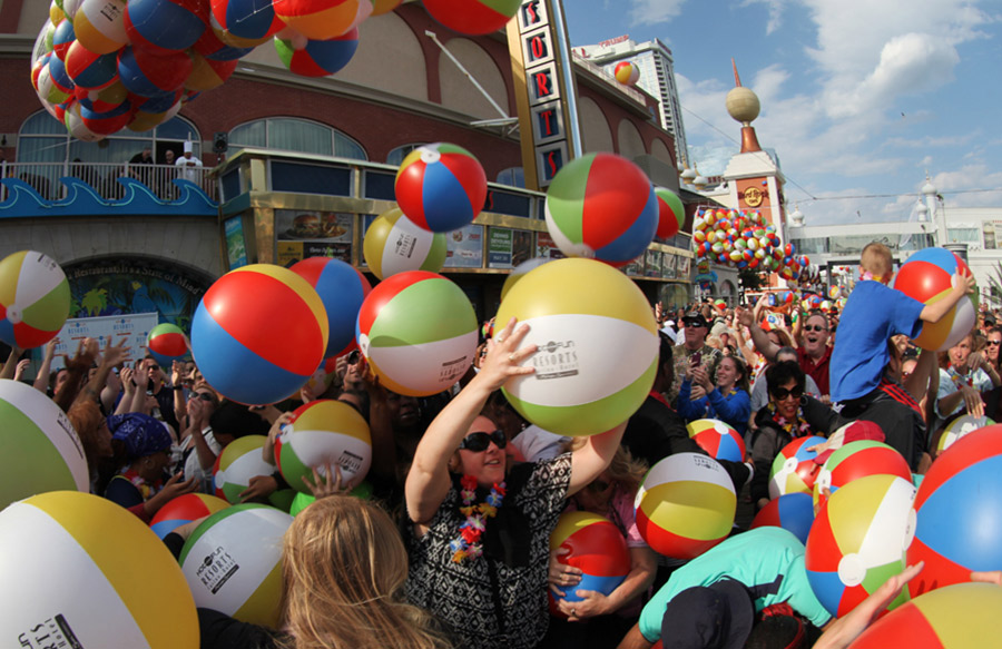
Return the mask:
<path fill-rule="evenodd" d="M 657 372 L 658 325 L 640 288 L 592 259 L 557 259 L 525 274 L 495 322 L 529 325 L 532 374 L 502 391 L 527 420 L 559 435 L 593 435 L 628 420 Z"/>

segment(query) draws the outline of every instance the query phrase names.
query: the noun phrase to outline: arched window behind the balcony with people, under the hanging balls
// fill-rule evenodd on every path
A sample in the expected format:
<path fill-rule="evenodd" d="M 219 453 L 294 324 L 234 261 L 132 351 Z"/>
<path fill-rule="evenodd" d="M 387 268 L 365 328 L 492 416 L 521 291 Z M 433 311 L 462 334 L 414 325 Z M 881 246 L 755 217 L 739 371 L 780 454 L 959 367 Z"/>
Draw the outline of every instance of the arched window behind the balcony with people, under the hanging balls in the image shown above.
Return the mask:
<path fill-rule="evenodd" d="M 101 141 L 85 142 L 75 139 L 55 117 L 40 110 L 21 125 L 17 161 L 71 163 L 79 159 L 88 164 L 120 165 L 144 148 L 150 147 L 154 159 L 163 163 L 167 149 L 180 155 L 187 139 L 191 140 L 193 153 L 202 157 L 202 135 L 184 117 L 174 117 L 144 132 L 122 129 Z"/>

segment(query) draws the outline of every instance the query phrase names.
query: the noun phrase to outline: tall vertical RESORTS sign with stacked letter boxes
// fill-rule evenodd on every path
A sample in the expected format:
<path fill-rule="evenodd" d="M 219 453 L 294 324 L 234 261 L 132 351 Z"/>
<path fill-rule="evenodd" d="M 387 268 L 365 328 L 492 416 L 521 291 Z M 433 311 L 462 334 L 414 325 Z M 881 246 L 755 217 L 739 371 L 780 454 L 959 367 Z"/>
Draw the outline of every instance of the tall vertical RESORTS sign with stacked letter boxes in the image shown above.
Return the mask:
<path fill-rule="evenodd" d="M 530 189 L 549 186 L 573 151 L 574 129 L 569 128 L 572 112 L 568 110 L 568 101 L 573 100 L 573 79 L 564 75 L 557 19 L 551 11 L 553 1 L 522 2 L 518 19 L 508 27 L 522 165 Z"/>

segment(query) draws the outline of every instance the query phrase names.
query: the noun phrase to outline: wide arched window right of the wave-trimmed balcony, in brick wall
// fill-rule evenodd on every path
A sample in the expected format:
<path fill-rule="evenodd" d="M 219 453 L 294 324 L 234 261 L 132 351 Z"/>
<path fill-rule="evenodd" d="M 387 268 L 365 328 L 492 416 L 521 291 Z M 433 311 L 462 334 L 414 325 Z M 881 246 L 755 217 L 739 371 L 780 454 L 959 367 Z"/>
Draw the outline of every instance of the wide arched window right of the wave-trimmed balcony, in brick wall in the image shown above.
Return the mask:
<path fill-rule="evenodd" d="M 337 156 L 367 160 L 365 149 L 340 130 L 325 124 L 293 117 L 268 117 L 242 124 L 229 131 L 229 148 L 244 147 Z"/>

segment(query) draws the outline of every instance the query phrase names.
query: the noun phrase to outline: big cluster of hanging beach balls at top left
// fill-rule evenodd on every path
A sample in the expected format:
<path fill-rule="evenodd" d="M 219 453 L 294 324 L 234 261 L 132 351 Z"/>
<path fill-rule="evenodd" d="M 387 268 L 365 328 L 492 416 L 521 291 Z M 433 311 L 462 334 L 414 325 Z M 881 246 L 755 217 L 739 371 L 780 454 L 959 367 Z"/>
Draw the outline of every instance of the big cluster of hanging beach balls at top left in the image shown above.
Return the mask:
<path fill-rule="evenodd" d="M 354 56 L 358 23 L 401 1 L 52 0 L 31 82 L 78 139 L 145 131 L 272 39 L 293 72 L 333 75 Z"/>

